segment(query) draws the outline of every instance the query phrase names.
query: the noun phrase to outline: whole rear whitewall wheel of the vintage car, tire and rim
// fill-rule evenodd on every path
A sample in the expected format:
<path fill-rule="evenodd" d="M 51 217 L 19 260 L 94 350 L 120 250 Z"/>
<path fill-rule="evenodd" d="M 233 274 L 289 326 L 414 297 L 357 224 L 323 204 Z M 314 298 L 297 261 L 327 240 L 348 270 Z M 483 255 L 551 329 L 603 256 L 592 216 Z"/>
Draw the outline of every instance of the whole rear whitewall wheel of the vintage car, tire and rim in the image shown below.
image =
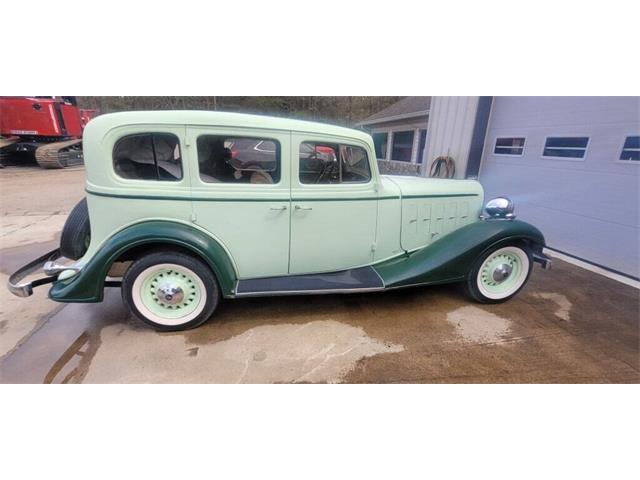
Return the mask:
<path fill-rule="evenodd" d="M 146 255 L 122 279 L 122 298 L 131 313 L 158 331 L 204 323 L 218 306 L 219 292 L 209 267 L 182 253 Z"/>

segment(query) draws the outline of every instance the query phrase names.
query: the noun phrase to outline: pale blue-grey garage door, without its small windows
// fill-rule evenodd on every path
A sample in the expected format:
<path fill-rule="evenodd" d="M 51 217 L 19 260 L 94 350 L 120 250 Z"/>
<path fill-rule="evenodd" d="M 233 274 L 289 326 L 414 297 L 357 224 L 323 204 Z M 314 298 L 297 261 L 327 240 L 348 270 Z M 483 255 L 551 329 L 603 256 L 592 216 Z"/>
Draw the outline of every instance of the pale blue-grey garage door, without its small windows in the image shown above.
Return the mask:
<path fill-rule="evenodd" d="M 640 162 L 618 160 L 638 134 L 637 97 L 495 97 L 480 181 L 487 198 L 511 197 L 550 247 L 638 277 Z M 493 153 L 496 137 L 519 136 L 522 156 Z M 589 136 L 584 160 L 542 157 L 546 136 Z"/>

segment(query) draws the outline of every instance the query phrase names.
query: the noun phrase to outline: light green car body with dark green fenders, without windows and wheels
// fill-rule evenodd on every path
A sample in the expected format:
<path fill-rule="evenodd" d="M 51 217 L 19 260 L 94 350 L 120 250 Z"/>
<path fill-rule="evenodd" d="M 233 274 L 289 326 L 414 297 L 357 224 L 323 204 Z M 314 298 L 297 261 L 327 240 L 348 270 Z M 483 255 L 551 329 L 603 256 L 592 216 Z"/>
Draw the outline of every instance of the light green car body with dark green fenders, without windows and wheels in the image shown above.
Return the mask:
<path fill-rule="evenodd" d="M 116 142 L 136 133 L 178 137 L 180 181 L 132 180 L 115 172 Z M 196 145 L 206 134 L 277 140 L 280 181 L 203 182 Z M 309 141 L 363 148 L 371 180 L 301 183 L 298 152 Z M 145 242 L 206 257 L 225 297 L 237 296 L 242 280 L 365 266 L 376 268 L 386 288 L 459 281 L 474 258 L 505 239 L 524 239 L 540 250 L 544 245 L 540 232 L 524 222 L 480 220 L 483 190 L 476 181 L 380 175 L 372 138 L 358 130 L 235 113 L 128 112 L 92 120 L 83 148 L 91 242 L 75 264 L 79 273 L 65 271 L 54 283 L 50 296 L 58 301 L 100 301 L 111 264 Z M 146 240 L 144 232 L 150 232 Z"/>

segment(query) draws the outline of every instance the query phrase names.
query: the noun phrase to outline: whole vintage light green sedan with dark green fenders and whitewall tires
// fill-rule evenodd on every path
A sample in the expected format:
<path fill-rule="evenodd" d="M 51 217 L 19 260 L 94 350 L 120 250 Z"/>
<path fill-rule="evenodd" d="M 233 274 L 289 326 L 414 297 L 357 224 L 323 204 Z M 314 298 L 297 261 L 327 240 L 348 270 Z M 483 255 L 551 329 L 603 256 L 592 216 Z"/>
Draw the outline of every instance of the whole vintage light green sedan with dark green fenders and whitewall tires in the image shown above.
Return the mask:
<path fill-rule="evenodd" d="M 86 199 L 60 248 L 10 277 L 16 295 L 52 283 L 53 300 L 100 302 L 121 286 L 132 313 L 166 331 L 200 325 L 221 298 L 462 282 L 500 302 L 534 261 L 549 265 L 508 199 L 483 209 L 476 181 L 380 175 L 362 131 L 128 112 L 92 120 L 83 144 Z"/>

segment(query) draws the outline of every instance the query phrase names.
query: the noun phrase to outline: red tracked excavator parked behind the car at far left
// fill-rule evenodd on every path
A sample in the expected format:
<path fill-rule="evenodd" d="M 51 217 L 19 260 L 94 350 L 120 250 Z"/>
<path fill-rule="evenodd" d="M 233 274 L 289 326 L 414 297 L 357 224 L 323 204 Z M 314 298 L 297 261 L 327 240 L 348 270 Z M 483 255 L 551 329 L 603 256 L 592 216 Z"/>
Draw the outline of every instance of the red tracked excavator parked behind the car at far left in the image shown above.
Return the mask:
<path fill-rule="evenodd" d="M 82 163 L 82 130 L 96 113 L 76 97 L 0 97 L 0 164 L 17 153 L 43 168 Z"/>

